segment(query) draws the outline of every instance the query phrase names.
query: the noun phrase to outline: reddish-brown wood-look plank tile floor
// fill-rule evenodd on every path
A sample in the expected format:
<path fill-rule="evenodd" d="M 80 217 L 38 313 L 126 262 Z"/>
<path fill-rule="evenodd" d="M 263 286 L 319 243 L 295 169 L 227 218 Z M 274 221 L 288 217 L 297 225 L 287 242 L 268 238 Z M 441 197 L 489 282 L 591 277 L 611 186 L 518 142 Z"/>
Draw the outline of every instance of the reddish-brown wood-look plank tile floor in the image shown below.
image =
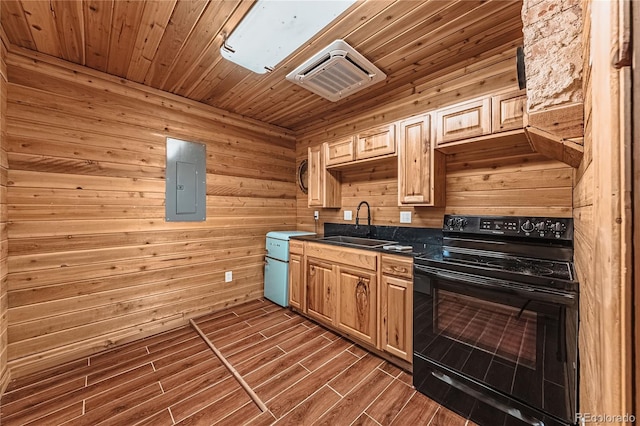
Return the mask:
<path fill-rule="evenodd" d="M 407 373 L 269 301 L 196 323 L 269 411 L 183 327 L 12 381 L 0 424 L 467 425 Z"/>

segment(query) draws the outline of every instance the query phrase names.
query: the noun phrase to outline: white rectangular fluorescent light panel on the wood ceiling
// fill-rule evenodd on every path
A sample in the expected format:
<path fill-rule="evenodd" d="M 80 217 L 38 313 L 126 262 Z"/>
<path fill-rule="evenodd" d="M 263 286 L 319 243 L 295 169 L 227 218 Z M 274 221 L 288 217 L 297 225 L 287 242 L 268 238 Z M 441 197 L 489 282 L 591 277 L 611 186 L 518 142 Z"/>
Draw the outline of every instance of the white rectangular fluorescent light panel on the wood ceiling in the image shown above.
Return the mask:
<path fill-rule="evenodd" d="M 220 49 L 258 74 L 272 71 L 355 0 L 258 0 Z"/>

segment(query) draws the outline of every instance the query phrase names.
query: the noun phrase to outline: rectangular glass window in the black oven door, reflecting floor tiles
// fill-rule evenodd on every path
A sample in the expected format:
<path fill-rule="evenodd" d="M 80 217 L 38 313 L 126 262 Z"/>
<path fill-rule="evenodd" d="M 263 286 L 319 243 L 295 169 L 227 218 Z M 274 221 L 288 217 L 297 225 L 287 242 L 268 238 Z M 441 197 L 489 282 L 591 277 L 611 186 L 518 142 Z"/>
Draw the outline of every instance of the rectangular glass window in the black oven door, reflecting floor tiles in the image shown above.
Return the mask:
<path fill-rule="evenodd" d="M 536 313 L 446 290 L 437 292 L 436 334 L 536 368 Z"/>

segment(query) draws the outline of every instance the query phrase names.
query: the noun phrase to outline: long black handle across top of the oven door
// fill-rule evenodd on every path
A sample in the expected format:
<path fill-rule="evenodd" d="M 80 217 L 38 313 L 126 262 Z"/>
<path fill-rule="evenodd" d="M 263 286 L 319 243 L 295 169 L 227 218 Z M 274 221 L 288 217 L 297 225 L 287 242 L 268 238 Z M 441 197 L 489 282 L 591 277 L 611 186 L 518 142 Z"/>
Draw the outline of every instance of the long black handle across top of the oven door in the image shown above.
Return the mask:
<path fill-rule="evenodd" d="M 526 284 L 516 284 L 509 281 L 485 278 L 478 275 L 465 274 L 462 272 L 445 271 L 439 268 L 414 264 L 417 273 L 427 274 L 434 278 L 447 279 L 455 282 L 462 282 L 465 285 L 475 285 L 485 289 L 509 291 L 519 296 L 531 300 L 542 302 L 559 303 L 562 305 L 573 305 L 576 301 L 576 294 L 570 291 L 561 291 L 551 288 L 539 288 Z"/>

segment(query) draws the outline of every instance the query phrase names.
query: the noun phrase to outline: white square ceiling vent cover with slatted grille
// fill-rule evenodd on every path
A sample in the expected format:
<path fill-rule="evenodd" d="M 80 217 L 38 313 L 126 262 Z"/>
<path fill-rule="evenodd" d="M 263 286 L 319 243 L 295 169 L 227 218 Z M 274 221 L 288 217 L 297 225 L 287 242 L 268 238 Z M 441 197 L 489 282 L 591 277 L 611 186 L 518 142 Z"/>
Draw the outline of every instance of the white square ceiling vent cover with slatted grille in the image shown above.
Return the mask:
<path fill-rule="evenodd" d="M 287 80 L 335 102 L 387 78 L 344 40 L 336 40 L 287 74 Z"/>

